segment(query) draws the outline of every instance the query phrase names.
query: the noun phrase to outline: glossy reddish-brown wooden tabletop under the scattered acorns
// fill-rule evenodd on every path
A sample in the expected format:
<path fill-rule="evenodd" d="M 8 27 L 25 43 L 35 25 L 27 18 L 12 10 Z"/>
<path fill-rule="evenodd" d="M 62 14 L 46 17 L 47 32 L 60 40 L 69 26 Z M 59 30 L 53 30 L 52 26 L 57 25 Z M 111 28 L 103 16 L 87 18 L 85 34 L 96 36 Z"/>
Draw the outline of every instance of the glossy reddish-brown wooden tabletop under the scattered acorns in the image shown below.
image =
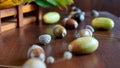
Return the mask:
<path fill-rule="evenodd" d="M 63 17 L 66 14 L 61 14 Z M 90 24 L 93 17 L 86 13 L 86 19 L 62 39 L 52 39 L 49 45 L 42 46 L 46 57 L 53 56 L 55 63 L 46 64 L 47 68 L 119 68 L 120 67 L 120 19 L 109 12 L 100 12 L 100 17 L 112 18 L 115 27 L 110 31 L 95 31 L 93 36 L 99 41 L 99 48 L 89 55 L 73 55 L 64 60 L 63 53 L 68 44 L 75 39 L 76 31 Z M 60 24 L 60 22 L 59 22 Z M 12 29 L 0 35 L 0 66 L 21 66 L 28 58 L 27 51 L 32 44 L 39 44 L 41 34 L 51 33 L 54 25 L 32 23 L 20 29 Z"/>

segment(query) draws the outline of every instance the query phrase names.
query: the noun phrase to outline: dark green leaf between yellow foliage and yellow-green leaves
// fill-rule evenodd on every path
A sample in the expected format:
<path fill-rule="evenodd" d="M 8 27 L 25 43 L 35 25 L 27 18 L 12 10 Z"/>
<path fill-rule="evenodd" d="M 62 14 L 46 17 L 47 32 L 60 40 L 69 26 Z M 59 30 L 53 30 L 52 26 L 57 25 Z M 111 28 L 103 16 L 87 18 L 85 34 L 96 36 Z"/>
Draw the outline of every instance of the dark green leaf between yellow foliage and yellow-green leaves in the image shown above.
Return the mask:
<path fill-rule="evenodd" d="M 38 6 L 44 7 L 44 8 L 51 8 L 54 7 L 54 5 L 50 4 L 49 2 L 47 2 L 46 0 L 35 0 L 35 3 Z"/>

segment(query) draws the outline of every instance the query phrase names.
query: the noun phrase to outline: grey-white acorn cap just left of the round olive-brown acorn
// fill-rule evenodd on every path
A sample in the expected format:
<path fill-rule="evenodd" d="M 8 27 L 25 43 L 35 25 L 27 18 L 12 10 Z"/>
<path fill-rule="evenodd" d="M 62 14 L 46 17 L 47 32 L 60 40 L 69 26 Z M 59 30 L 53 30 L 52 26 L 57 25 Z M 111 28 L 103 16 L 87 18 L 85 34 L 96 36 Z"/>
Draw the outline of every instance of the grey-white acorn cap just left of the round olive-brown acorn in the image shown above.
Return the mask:
<path fill-rule="evenodd" d="M 41 44 L 47 45 L 51 42 L 51 36 L 49 34 L 43 34 L 39 36 L 39 42 Z"/>

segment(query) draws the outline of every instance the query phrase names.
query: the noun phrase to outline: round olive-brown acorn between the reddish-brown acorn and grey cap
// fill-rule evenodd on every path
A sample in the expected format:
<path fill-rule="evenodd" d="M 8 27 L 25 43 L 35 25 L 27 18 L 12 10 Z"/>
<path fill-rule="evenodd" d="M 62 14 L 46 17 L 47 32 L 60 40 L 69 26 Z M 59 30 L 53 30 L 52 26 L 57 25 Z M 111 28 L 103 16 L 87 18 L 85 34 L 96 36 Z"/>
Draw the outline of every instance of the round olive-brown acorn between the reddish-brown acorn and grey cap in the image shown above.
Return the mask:
<path fill-rule="evenodd" d="M 55 25 L 53 28 L 53 34 L 57 38 L 63 38 L 67 35 L 67 30 L 62 25 Z"/>

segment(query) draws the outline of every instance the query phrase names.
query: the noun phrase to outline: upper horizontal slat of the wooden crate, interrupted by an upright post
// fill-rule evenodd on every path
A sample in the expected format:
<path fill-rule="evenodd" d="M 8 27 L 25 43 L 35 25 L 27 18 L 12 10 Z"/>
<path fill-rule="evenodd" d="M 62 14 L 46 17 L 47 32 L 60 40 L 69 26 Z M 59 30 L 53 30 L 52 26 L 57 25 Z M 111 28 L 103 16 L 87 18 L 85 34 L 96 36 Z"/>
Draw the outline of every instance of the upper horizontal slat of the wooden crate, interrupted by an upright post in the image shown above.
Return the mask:
<path fill-rule="evenodd" d="M 35 10 L 35 5 L 33 5 L 33 4 L 28 4 L 28 5 L 22 6 L 23 13 L 27 13 L 27 12 L 30 12 L 33 10 Z M 1 18 L 13 16 L 13 15 L 16 15 L 16 13 L 17 13 L 16 8 L 2 9 L 0 11 L 1 11 Z"/>

